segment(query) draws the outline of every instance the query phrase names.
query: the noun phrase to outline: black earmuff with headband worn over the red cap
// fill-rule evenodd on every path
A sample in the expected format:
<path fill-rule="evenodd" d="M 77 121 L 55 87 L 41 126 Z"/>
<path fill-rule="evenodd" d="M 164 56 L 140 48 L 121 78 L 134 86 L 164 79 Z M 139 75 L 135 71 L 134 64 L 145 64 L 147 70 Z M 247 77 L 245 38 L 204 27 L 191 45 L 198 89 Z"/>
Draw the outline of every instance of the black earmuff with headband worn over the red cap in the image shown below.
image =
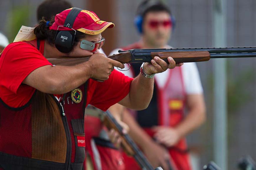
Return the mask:
<path fill-rule="evenodd" d="M 68 53 L 73 49 L 74 40 L 76 35 L 76 30 L 72 28 L 74 21 L 82 9 L 72 8 L 72 10 L 67 15 L 67 18 L 64 22 L 64 26 L 58 26 L 55 35 L 55 47 L 63 53 Z M 73 31 L 59 31 L 59 27 L 67 27 L 72 29 Z"/>

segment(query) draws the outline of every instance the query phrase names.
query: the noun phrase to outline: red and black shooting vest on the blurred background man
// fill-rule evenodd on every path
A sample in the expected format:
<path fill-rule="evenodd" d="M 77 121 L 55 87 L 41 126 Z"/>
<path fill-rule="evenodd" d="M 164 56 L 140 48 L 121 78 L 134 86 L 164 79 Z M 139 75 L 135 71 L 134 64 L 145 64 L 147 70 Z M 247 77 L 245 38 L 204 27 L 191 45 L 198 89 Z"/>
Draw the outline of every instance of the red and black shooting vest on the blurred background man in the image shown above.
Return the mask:
<path fill-rule="evenodd" d="M 141 45 L 134 43 L 122 49 L 130 50 L 135 48 L 141 48 Z M 139 74 L 140 65 L 140 63 L 131 64 L 134 77 Z M 137 111 L 137 121 L 145 132 L 153 137 L 154 131 L 151 130 L 152 126 L 177 126 L 184 118 L 185 105 L 186 92 L 182 79 L 182 69 L 181 67 L 175 67 L 168 72 L 167 81 L 163 87 L 159 86 L 155 78 L 152 100 L 147 109 Z M 175 146 L 167 149 L 172 157 L 172 162 L 175 164 L 173 166 L 176 166 L 178 170 L 191 169 L 185 138 L 181 139 Z M 124 158 L 127 159 L 125 156 Z M 127 161 L 125 161 L 125 164 L 128 166 L 126 169 L 134 168 L 130 162 L 127 165 Z"/>

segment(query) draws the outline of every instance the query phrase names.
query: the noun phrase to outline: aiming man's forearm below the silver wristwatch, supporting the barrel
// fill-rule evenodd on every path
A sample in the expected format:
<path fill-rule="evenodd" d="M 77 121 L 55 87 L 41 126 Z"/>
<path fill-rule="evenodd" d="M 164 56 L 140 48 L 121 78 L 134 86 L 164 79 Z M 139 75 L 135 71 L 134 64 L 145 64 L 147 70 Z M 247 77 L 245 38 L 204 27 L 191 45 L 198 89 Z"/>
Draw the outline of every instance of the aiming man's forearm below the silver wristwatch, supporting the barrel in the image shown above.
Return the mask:
<path fill-rule="evenodd" d="M 143 110 L 148 107 L 154 89 L 154 78 L 145 78 L 139 74 L 131 83 L 129 100 L 131 109 Z"/>

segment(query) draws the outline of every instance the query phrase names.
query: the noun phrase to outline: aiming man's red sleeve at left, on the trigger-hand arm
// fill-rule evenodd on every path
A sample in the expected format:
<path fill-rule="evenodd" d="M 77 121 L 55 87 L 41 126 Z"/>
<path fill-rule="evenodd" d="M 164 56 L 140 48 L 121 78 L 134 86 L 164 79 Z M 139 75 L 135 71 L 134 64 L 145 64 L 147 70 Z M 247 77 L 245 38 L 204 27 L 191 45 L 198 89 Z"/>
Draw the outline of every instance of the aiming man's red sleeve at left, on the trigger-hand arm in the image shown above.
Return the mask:
<path fill-rule="evenodd" d="M 0 57 L 0 98 L 11 107 L 28 101 L 26 98 L 31 98 L 35 89 L 21 83 L 32 71 L 45 65 L 52 64 L 30 44 L 8 45 Z"/>

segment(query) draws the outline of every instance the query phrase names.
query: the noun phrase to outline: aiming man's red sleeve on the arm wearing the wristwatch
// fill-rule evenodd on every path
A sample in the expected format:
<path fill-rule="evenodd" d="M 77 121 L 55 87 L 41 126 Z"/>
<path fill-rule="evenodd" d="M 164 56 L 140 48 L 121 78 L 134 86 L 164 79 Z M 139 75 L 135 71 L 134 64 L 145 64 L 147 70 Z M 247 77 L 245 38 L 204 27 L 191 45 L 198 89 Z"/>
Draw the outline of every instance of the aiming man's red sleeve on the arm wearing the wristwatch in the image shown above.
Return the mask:
<path fill-rule="evenodd" d="M 115 69 L 104 82 L 97 82 L 91 105 L 106 111 L 110 106 L 118 103 L 130 92 L 130 86 L 133 78 L 125 76 Z"/>

